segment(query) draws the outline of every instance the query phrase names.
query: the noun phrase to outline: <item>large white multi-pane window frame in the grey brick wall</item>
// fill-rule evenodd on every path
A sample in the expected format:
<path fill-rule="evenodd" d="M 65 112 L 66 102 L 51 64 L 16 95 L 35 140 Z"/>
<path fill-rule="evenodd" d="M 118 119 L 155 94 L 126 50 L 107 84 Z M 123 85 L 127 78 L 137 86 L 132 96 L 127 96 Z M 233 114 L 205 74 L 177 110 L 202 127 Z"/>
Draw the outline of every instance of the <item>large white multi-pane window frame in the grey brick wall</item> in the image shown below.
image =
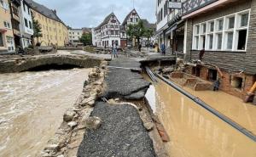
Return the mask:
<path fill-rule="evenodd" d="M 247 26 L 240 26 L 241 25 L 241 15 L 242 14 L 248 14 L 248 21 Z M 247 51 L 247 40 L 248 40 L 248 31 L 249 31 L 249 25 L 250 25 L 250 14 L 251 9 L 246 9 L 240 12 L 236 12 L 234 14 L 228 14 L 222 17 L 218 17 L 213 20 L 207 20 L 198 24 L 193 25 L 193 38 L 192 38 L 192 50 L 201 50 L 203 49 L 203 41 L 202 36 L 205 36 L 205 50 L 207 51 L 230 51 L 230 52 L 246 52 Z M 235 17 L 235 23 L 234 28 L 228 29 L 229 26 L 229 18 Z M 223 20 L 223 28 L 222 30 L 218 30 L 218 21 Z M 213 31 L 210 31 L 211 29 L 211 23 L 214 22 L 214 28 Z M 206 24 L 206 32 L 203 32 L 203 26 Z M 196 32 L 196 26 L 199 26 L 199 34 Z M 247 30 L 247 37 L 246 37 L 246 43 L 245 43 L 245 49 L 237 49 L 238 47 L 238 38 L 239 38 L 239 31 L 241 30 Z M 228 33 L 233 32 L 233 41 L 232 41 L 232 48 L 227 48 L 227 40 L 228 40 Z M 222 43 L 221 43 L 221 49 L 218 49 L 218 34 L 222 34 Z M 210 36 L 213 36 L 212 39 L 212 48 L 209 48 L 210 46 Z M 196 39 L 198 38 L 198 42 Z"/>

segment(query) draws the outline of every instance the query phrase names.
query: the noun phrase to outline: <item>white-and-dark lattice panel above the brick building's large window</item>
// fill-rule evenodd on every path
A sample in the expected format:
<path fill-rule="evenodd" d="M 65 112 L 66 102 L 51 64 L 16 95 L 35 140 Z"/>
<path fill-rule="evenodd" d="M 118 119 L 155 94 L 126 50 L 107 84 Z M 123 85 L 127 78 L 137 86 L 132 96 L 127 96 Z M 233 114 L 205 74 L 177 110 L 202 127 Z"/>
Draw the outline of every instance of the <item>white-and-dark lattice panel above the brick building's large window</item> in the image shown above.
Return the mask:
<path fill-rule="evenodd" d="M 183 3 L 183 16 L 217 1 L 218 0 L 187 0 Z"/>

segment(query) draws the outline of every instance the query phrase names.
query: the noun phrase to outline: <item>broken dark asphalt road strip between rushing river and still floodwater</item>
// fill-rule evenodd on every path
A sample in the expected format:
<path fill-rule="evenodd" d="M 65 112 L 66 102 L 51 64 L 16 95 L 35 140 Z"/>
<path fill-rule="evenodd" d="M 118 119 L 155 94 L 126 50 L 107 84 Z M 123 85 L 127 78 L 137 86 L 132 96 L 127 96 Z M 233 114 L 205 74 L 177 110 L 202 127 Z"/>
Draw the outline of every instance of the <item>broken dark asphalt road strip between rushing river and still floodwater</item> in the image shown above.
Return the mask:
<path fill-rule="evenodd" d="M 110 66 L 140 69 L 134 60 L 115 59 Z M 137 72 L 110 68 L 105 78 L 104 98 L 140 99 L 150 83 Z M 88 130 L 79 146 L 79 157 L 154 157 L 154 146 L 137 109 L 127 104 L 96 102 L 91 116 L 101 118 L 102 126 Z"/>

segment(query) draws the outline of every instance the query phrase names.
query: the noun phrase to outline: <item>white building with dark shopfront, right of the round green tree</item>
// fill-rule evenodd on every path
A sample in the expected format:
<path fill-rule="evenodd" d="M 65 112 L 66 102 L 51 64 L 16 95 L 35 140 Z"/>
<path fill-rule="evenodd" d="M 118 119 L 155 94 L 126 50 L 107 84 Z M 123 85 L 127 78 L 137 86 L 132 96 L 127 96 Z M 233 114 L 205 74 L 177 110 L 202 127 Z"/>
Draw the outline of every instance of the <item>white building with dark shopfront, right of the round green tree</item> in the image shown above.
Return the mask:
<path fill-rule="evenodd" d="M 177 0 L 181 4 L 185 0 Z M 171 8 L 169 0 L 156 0 L 156 42 L 161 45 L 165 44 L 166 48 L 173 52 L 182 52 L 184 44 L 184 23 L 181 22 L 181 8 Z"/>

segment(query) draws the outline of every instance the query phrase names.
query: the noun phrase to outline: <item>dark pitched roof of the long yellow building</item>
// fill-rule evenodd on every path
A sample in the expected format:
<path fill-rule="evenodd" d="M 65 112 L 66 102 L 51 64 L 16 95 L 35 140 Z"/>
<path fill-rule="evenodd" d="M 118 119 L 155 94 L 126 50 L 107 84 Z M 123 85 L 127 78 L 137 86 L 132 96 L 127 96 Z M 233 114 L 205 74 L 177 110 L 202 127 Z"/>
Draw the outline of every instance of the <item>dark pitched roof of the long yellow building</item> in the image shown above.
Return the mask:
<path fill-rule="evenodd" d="M 26 1 L 26 3 L 28 3 L 28 5 L 32 9 L 34 9 L 38 13 L 43 14 L 44 16 L 48 17 L 49 19 L 56 20 L 58 22 L 61 22 L 63 25 L 65 25 L 65 23 L 57 16 L 57 14 L 55 13 L 55 10 L 49 9 L 42 4 L 34 2 L 33 0 L 25 0 L 25 1 Z"/>

